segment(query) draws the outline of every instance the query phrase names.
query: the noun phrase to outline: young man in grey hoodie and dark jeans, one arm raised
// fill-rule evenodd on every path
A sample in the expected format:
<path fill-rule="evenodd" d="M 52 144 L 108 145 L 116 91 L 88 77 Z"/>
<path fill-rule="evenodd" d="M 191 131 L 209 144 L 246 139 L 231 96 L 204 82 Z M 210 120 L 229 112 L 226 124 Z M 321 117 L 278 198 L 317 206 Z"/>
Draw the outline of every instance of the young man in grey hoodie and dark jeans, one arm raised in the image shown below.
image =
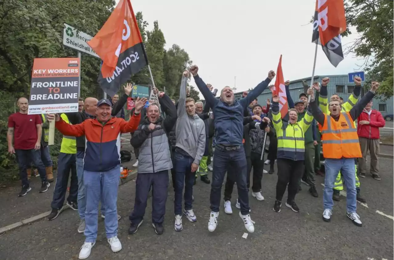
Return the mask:
<path fill-rule="evenodd" d="M 205 124 L 195 112 L 195 101 L 186 98 L 186 82 L 189 72 L 182 74 L 180 84 L 177 127 L 175 131 L 175 231 L 182 230 L 182 191 L 185 185 L 185 210 L 183 214 L 189 221 L 197 221 L 191 206 L 195 172 L 205 150 Z"/>

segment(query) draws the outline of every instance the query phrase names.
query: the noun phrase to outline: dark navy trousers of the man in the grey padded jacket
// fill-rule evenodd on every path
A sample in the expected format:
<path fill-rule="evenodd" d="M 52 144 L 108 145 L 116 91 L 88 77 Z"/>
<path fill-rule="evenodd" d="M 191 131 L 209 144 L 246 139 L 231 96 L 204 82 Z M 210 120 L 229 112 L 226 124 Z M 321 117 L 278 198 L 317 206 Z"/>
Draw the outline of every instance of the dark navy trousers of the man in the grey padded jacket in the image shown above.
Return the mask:
<path fill-rule="evenodd" d="M 137 174 L 136 200 L 134 210 L 129 216 L 131 223 L 142 221 L 147 207 L 150 188 L 152 187 L 152 223 L 162 224 L 165 215 L 165 202 L 167 201 L 168 171 L 156 173 Z"/>

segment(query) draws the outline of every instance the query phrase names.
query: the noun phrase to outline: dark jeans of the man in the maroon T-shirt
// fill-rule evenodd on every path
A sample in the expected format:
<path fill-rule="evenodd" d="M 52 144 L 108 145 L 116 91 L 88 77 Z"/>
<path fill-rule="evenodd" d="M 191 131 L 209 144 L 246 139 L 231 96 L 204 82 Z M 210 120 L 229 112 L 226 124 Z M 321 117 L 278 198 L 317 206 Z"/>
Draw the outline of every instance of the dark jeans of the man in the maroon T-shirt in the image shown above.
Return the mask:
<path fill-rule="evenodd" d="M 29 186 L 27 179 L 27 168 L 30 168 L 30 163 L 33 162 L 37 167 L 38 173 L 40 174 L 41 181 L 46 181 L 46 171 L 43 161 L 41 161 L 41 152 L 30 149 L 30 150 L 15 150 L 17 161 L 19 165 L 19 177 L 22 181 L 22 186 Z"/>

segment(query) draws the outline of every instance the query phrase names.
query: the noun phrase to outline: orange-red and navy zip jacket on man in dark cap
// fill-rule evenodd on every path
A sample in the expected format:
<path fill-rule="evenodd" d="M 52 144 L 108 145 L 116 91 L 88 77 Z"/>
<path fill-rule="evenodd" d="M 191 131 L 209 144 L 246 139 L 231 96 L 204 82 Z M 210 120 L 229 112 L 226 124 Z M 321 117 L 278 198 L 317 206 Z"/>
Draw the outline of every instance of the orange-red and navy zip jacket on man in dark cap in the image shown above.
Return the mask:
<path fill-rule="evenodd" d="M 120 164 L 121 133 L 136 131 L 141 113 L 133 114 L 128 122 L 113 117 L 105 125 L 97 119 L 87 119 L 77 125 L 70 125 L 61 118 L 56 128 L 63 135 L 80 137 L 85 135 L 84 170 L 105 172 Z"/>

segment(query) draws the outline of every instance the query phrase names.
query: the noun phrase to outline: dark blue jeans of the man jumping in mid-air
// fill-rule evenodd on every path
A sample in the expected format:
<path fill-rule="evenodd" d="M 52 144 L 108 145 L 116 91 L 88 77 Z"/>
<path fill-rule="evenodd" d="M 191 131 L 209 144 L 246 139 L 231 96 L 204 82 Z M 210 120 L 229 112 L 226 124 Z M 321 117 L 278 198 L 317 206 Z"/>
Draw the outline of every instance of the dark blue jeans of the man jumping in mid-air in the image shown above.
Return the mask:
<path fill-rule="evenodd" d="M 238 201 L 241 204 L 241 213 L 242 215 L 249 214 L 249 196 L 246 180 L 247 163 L 243 146 L 236 150 L 225 150 L 223 146 L 216 144 L 214 157 L 210 194 L 211 210 L 219 212 L 221 187 L 226 171 L 231 167 L 232 171 L 236 173 Z"/>

